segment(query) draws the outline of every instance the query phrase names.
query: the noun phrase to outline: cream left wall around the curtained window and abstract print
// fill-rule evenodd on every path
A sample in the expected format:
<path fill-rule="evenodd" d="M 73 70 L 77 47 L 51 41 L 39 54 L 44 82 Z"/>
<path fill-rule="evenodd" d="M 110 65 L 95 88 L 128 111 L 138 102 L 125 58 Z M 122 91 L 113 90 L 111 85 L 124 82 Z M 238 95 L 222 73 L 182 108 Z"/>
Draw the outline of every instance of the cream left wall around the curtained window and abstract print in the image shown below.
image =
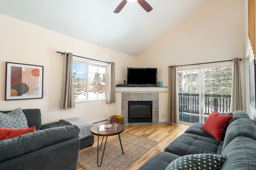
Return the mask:
<path fill-rule="evenodd" d="M 90 122 L 96 122 L 118 114 L 115 108 L 119 106 L 106 104 L 105 100 L 77 103 L 73 109 L 60 109 L 63 57 L 56 51 L 67 51 L 78 56 L 115 62 L 116 83 L 122 83 L 123 77 L 126 76 L 126 67 L 134 66 L 136 57 L 73 39 L 9 16 L 0 15 L 0 22 L 1 111 L 19 107 L 22 109 L 39 108 L 42 112 L 43 124 L 71 117 L 80 117 Z M 44 66 L 44 91 L 48 92 L 48 96 L 44 96 L 43 99 L 5 101 L 5 62 Z"/>

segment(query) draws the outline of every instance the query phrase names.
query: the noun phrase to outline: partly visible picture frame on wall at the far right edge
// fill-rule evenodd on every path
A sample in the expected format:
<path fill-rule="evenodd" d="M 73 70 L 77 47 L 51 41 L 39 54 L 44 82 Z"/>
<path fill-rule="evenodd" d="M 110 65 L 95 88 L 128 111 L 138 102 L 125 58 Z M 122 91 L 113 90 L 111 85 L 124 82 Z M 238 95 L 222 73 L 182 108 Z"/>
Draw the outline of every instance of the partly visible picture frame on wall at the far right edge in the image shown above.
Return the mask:
<path fill-rule="evenodd" d="M 255 75 L 256 75 L 256 63 L 255 59 L 249 65 L 249 83 L 250 83 L 250 104 L 254 108 L 256 108 L 256 100 L 255 100 Z"/>

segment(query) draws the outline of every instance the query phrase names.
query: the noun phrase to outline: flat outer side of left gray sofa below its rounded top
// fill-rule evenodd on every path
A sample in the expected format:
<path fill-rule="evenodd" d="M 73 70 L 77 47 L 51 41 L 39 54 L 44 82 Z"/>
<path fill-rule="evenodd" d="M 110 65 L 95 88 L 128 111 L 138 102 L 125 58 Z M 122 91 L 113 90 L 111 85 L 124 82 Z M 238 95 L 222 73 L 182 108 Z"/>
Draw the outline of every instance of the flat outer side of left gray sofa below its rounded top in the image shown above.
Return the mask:
<path fill-rule="evenodd" d="M 77 169 L 79 155 L 79 138 L 44 147 L 40 150 L 20 155 L 0 163 L 0 169 Z"/>

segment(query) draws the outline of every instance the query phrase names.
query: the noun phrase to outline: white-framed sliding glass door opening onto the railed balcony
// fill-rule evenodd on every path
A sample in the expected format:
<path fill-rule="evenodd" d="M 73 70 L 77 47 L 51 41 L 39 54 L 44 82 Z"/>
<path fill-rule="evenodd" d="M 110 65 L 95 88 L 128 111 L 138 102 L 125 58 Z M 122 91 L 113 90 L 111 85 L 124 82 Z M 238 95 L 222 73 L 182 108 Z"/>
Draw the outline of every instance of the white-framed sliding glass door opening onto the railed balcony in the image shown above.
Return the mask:
<path fill-rule="evenodd" d="M 204 122 L 208 115 L 230 112 L 232 66 L 177 71 L 180 121 Z"/>

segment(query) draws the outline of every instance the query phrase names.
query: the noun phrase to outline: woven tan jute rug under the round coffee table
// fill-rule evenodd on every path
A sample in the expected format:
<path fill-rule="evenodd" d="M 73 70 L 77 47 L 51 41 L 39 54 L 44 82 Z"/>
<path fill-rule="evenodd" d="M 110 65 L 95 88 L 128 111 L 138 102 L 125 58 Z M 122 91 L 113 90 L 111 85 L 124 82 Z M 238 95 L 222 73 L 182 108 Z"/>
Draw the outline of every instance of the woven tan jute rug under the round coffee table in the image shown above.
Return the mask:
<path fill-rule="evenodd" d="M 86 170 L 125 170 L 158 143 L 151 139 L 129 133 L 121 135 L 121 141 L 124 155 L 122 154 L 118 135 L 116 138 L 107 141 L 101 167 L 97 166 L 97 146 L 80 154 L 78 163 L 81 165 L 82 168 Z M 101 150 L 99 151 L 99 163 L 101 160 L 103 148 L 104 142 L 102 144 Z"/>

